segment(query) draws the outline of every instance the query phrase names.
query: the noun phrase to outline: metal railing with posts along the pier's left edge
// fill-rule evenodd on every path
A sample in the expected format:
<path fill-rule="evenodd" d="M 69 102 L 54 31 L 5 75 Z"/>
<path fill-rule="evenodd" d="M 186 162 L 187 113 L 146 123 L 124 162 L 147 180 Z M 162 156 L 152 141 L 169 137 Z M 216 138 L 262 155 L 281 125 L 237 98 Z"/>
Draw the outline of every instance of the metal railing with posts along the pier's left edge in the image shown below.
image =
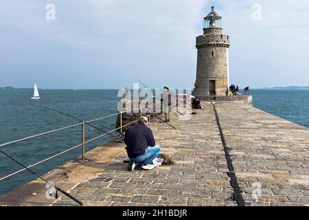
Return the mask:
<path fill-rule="evenodd" d="M 156 117 L 156 114 L 157 114 L 157 113 L 155 112 L 155 103 L 152 104 L 152 107 L 153 107 L 153 110 L 154 110 L 153 113 L 148 113 L 148 114 L 147 114 L 147 118 L 148 118 L 148 122 L 149 122 L 149 125 L 150 125 L 150 126 L 151 126 L 151 122 L 150 122 L 150 121 L 151 121 L 151 116 L 153 115 L 153 120 L 155 120 L 155 117 Z M 14 140 L 14 141 L 11 141 L 11 142 L 7 142 L 7 143 L 4 143 L 4 144 L 0 144 L 0 148 L 2 148 L 2 147 L 4 147 L 4 146 L 9 146 L 9 145 L 11 145 L 11 144 L 16 144 L 16 143 L 19 143 L 19 142 L 23 142 L 23 141 L 26 141 L 26 140 L 31 140 L 31 139 L 34 139 L 35 137 L 41 137 L 41 136 L 44 136 L 44 135 L 48 135 L 48 134 L 50 134 L 50 133 L 55 133 L 55 132 L 58 132 L 58 131 L 63 131 L 63 130 L 65 130 L 65 129 L 71 129 L 71 128 L 76 127 L 76 126 L 82 126 L 82 143 L 80 143 L 80 144 L 78 144 L 78 145 L 76 145 L 76 146 L 72 146 L 71 148 L 68 148 L 67 150 L 62 151 L 62 152 L 60 152 L 60 153 L 58 153 L 58 154 L 56 154 L 56 155 L 53 155 L 53 156 L 48 157 L 48 158 L 46 158 L 46 159 L 43 159 L 43 160 L 41 160 L 40 162 L 36 162 L 35 164 L 32 164 L 32 165 L 30 165 L 30 166 L 27 166 L 27 168 L 32 168 L 32 167 L 34 167 L 34 166 L 38 166 L 39 164 L 43 164 L 43 163 L 49 161 L 50 159 L 54 159 L 54 158 L 56 158 L 56 157 L 59 157 L 60 155 L 63 155 L 63 154 L 65 154 L 65 153 L 68 153 L 69 151 L 73 151 L 74 149 L 76 149 L 76 148 L 78 148 L 78 147 L 80 147 L 80 146 L 82 146 L 82 155 L 81 155 L 81 160 L 80 160 L 80 162 L 87 162 L 87 160 L 86 160 L 86 158 L 85 158 L 85 154 L 86 154 L 86 144 L 89 144 L 89 143 L 91 143 L 91 142 L 93 142 L 93 141 L 95 141 L 95 140 L 98 140 L 98 139 L 100 139 L 101 137 L 104 137 L 104 136 L 106 136 L 106 135 L 111 135 L 111 133 L 113 133 L 113 132 L 115 132 L 115 131 L 120 131 L 120 133 L 122 133 L 124 127 L 129 126 L 129 125 L 131 125 L 131 124 L 134 124 L 134 123 L 138 122 L 139 120 L 135 120 L 135 121 L 130 122 L 130 123 L 128 123 L 128 124 L 123 124 L 122 115 L 123 115 L 124 113 L 134 113 L 135 110 L 139 110 L 139 112 L 141 113 L 141 115 L 143 114 L 143 112 L 142 112 L 143 109 L 141 109 L 141 108 L 138 108 L 138 109 L 131 109 L 131 110 L 128 110 L 128 111 L 121 111 L 121 112 L 119 112 L 119 113 L 114 113 L 114 114 L 112 114 L 112 115 L 107 115 L 107 116 L 104 116 L 104 117 L 102 117 L 102 118 L 97 118 L 97 119 L 94 119 L 94 120 L 89 120 L 89 121 L 87 121 L 87 122 L 83 121 L 83 122 L 78 123 L 78 124 L 72 124 L 72 125 L 69 125 L 69 126 L 62 127 L 62 128 L 60 128 L 60 129 L 54 129 L 54 130 L 52 130 L 52 131 L 47 131 L 47 132 L 44 132 L 44 133 L 39 133 L 39 134 L 36 134 L 36 135 L 29 136 L 29 137 L 24 137 L 24 138 L 21 138 L 21 139 L 19 139 L 19 140 Z M 91 140 L 87 140 L 87 141 L 86 141 L 86 136 L 85 136 L 85 133 L 86 133 L 86 129 L 85 129 L 86 124 L 89 124 L 89 123 L 91 123 L 91 122 L 98 122 L 99 120 L 104 120 L 104 119 L 106 119 L 106 118 L 111 118 L 111 117 L 113 117 L 113 116 L 118 116 L 118 115 L 120 115 L 120 126 L 119 126 L 119 127 L 117 127 L 116 129 L 113 129 L 113 130 L 111 130 L 111 131 L 105 132 L 105 133 L 102 134 L 102 135 L 98 135 L 97 137 L 93 137 Z M 89 125 L 91 125 L 91 124 L 89 124 Z M 6 175 L 5 177 L 1 177 L 1 178 L 0 178 L 0 181 L 3 181 L 3 180 L 5 180 L 5 179 L 8 179 L 8 178 L 14 176 L 14 175 L 17 175 L 17 174 L 23 172 L 24 170 L 26 170 L 26 168 L 22 168 L 21 170 L 17 170 L 17 171 L 14 172 L 14 173 L 10 173 L 9 175 Z"/>

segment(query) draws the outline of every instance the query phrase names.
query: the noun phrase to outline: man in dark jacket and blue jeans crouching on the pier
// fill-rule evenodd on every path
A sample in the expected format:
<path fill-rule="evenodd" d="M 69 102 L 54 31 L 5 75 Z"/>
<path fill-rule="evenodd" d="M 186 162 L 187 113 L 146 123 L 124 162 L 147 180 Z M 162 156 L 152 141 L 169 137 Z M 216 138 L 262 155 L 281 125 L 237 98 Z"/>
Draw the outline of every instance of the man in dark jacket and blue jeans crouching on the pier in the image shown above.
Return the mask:
<path fill-rule="evenodd" d="M 155 168 L 152 161 L 159 155 L 161 148 L 156 146 L 155 137 L 153 137 L 151 129 L 148 128 L 146 117 L 139 118 L 139 124 L 126 131 L 124 142 L 130 158 L 129 171 L 133 171 L 135 166 L 144 170 Z"/>

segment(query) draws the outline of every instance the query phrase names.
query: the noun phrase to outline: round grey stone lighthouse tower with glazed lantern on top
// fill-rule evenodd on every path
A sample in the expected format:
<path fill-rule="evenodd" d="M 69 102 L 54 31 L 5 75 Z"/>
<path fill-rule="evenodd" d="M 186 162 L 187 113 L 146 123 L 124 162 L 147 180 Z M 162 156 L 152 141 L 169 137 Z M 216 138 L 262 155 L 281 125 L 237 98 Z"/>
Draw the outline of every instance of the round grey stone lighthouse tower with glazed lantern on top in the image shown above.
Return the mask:
<path fill-rule="evenodd" d="M 225 96 L 229 87 L 229 36 L 222 34 L 221 19 L 211 7 L 204 18 L 204 34 L 196 37 L 198 50 L 193 95 Z"/>

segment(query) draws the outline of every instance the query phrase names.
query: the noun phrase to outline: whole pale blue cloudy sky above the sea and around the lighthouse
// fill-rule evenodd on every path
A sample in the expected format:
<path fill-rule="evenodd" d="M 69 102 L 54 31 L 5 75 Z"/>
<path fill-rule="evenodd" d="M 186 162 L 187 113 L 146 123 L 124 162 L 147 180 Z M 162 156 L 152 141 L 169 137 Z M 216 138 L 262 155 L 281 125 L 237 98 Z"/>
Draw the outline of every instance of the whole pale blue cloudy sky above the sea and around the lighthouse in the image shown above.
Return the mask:
<path fill-rule="evenodd" d="M 308 0 L 0 3 L 0 87 L 119 89 L 139 78 L 151 88 L 193 88 L 195 39 L 212 5 L 231 36 L 231 83 L 309 85 Z"/>

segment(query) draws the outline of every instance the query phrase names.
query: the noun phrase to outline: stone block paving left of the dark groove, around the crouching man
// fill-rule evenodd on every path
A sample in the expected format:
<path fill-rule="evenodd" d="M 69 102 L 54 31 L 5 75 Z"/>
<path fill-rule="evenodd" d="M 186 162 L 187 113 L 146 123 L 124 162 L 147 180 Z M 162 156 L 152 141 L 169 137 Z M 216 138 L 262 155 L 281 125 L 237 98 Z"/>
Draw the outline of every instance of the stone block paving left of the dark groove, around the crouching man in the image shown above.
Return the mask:
<path fill-rule="evenodd" d="M 176 165 L 128 172 L 123 151 L 98 176 L 73 188 L 72 195 L 88 206 L 237 206 L 214 111 L 206 104 L 199 112 L 188 121 L 172 114 L 176 130 L 152 123 L 157 144 Z M 75 205 L 67 197 L 54 203 Z"/>

